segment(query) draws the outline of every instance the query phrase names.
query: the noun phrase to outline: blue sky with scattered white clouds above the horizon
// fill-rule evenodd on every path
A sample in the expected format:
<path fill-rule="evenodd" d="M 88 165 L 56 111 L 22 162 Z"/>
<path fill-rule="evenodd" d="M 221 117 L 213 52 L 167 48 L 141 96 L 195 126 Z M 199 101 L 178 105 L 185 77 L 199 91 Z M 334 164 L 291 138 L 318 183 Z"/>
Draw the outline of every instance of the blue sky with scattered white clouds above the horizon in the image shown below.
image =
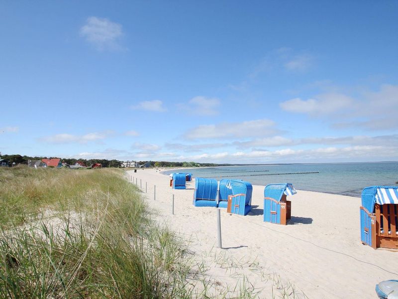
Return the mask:
<path fill-rule="evenodd" d="M 398 160 L 397 32 L 396 0 L 0 0 L 0 151 Z"/>

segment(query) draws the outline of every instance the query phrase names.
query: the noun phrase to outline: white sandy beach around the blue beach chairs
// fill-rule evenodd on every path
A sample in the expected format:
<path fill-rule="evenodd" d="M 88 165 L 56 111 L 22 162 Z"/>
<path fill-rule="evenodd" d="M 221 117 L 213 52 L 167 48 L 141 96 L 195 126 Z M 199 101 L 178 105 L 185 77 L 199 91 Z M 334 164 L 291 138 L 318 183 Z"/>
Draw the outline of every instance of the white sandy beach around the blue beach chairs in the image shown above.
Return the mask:
<path fill-rule="evenodd" d="M 160 213 L 157 220 L 191 241 L 196 260 L 204 261 L 200 269 L 207 270 L 205 280 L 214 297 L 225 292 L 227 298 L 233 297 L 236 286 L 245 286 L 254 288 L 259 298 L 290 298 L 293 287 L 295 298 L 305 298 L 302 294 L 316 299 L 377 298 L 376 284 L 398 279 L 387 272 L 398 273 L 397 252 L 374 250 L 360 242 L 360 198 L 298 191 L 288 196 L 292 220 L 284 226 L 263 222 L 264 186 L 254 185 L 252 212 L 247 216 L 221 209 L 223 249 L 218 249 L 216 208 L 193 206 L 194 181 L 186 190 L 174 190 L 169 177 L 155 169 L 128 174 L 134 183 L 137 179 L 138 187 L 141 180 L 148 204 Z"/>

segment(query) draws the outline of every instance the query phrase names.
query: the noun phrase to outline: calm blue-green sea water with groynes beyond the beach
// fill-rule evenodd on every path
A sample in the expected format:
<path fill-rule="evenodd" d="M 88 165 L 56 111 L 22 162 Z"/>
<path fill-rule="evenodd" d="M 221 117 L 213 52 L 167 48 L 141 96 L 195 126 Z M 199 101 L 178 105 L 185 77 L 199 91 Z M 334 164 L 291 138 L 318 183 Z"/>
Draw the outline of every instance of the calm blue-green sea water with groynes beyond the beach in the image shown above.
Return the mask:
<path fill-rule="evenodd" d="M 271 183 L 292 183 L 295 188 L 361 197 L 362 189 L 373 185 L 396 186 L 398 181 L 398 162 L 378 163 L 336 163 L 336 164 L 288 164 L 226 166 L 184 169 L 194 177 L 238 178 L 253 185 Z M 181 171 L 181 172 L 183 172 Z M 278 174 L 297 172 L 316 172 L 300 174 Z M 176 170 L 162 173 L 170 174 Z"/>

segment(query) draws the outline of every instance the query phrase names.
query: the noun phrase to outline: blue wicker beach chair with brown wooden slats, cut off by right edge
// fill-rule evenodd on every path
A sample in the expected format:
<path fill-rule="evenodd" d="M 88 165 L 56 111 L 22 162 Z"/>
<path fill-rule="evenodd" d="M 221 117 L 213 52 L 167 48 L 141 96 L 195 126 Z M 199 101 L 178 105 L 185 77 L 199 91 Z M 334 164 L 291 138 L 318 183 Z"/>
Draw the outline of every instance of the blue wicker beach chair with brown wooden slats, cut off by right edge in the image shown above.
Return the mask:
<path fill-rule="evenodd" d="M 361 242 L 374 249 L 398 249 L 398 187 L 367 187 L 361 200 Z"/>

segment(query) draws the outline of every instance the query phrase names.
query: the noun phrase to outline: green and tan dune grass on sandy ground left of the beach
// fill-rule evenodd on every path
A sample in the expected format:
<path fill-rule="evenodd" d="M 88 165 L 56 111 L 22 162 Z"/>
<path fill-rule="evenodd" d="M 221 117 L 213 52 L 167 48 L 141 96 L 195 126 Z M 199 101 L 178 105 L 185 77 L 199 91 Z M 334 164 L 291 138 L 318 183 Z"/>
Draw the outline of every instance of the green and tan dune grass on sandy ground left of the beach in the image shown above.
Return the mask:
<path fill-rule="evenodd" d="M 0 168 L 1 298 L 190 298 L 185 246 L 117 169 Z"/>

